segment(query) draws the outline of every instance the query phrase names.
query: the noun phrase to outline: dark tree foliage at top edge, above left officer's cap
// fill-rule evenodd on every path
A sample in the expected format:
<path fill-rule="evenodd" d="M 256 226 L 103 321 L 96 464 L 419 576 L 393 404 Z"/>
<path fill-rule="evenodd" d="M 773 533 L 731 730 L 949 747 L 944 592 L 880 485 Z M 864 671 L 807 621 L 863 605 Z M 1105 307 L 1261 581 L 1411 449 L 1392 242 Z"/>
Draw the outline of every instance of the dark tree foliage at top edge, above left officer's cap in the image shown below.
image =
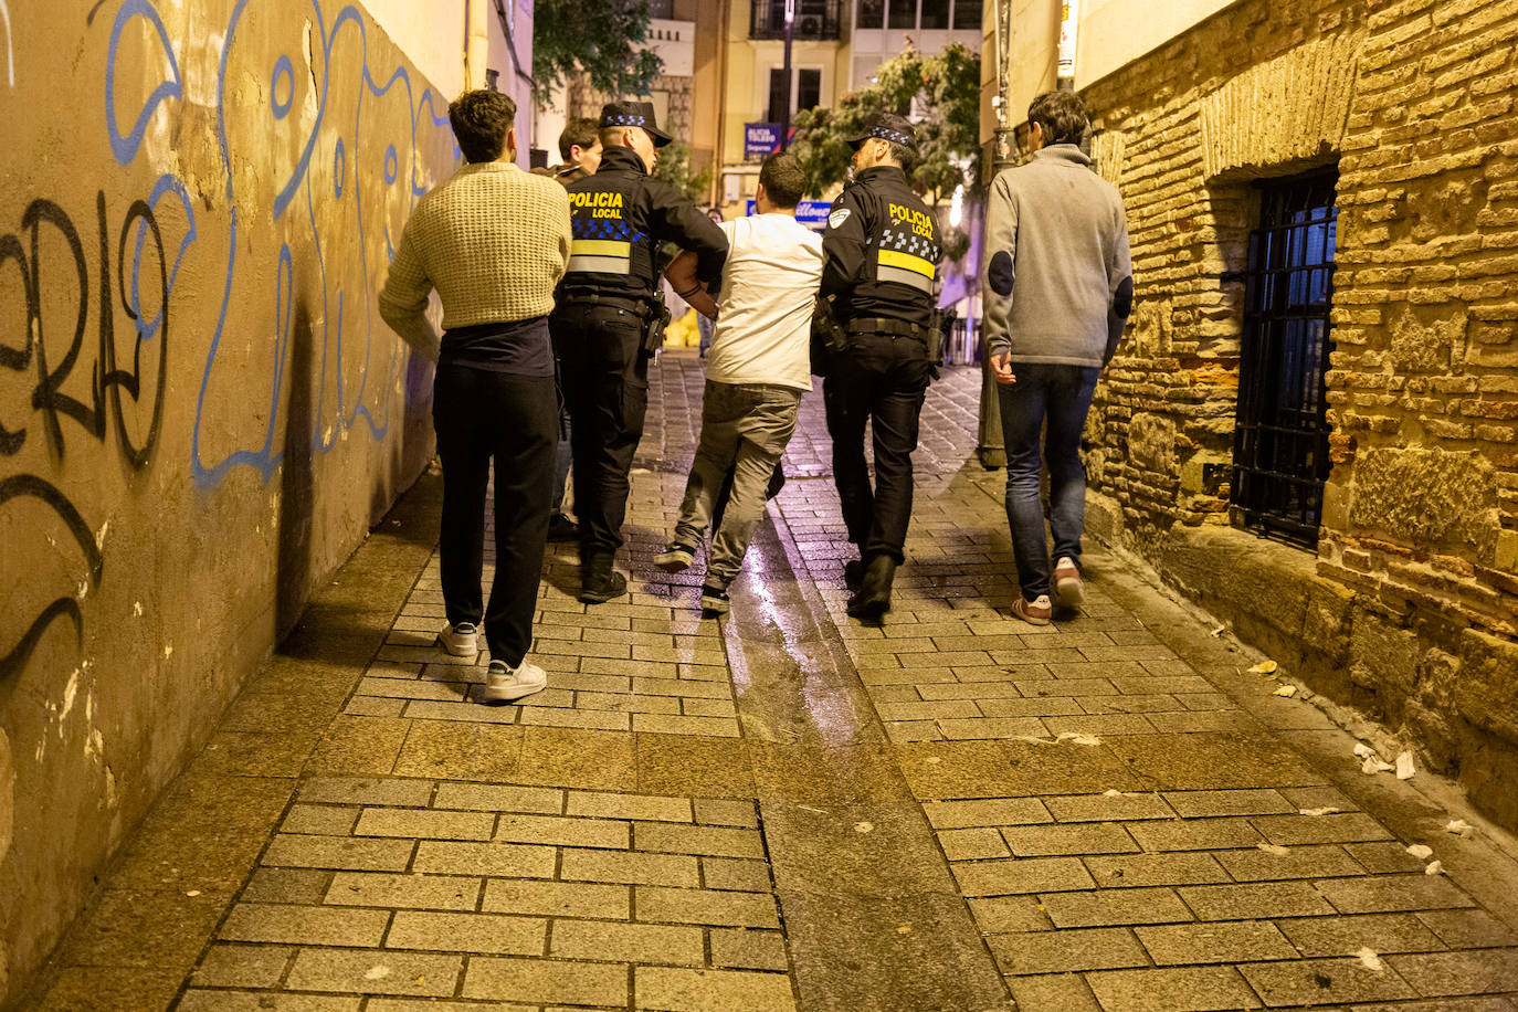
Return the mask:
<path fill-rule="evenodd" d="M 533 8 L 533 77 L 537 100 L 578 73 L 597 91 L 645 96 L 663 61 L 636 46 L 648 39 L 648 0 L 537 0 Z"/>

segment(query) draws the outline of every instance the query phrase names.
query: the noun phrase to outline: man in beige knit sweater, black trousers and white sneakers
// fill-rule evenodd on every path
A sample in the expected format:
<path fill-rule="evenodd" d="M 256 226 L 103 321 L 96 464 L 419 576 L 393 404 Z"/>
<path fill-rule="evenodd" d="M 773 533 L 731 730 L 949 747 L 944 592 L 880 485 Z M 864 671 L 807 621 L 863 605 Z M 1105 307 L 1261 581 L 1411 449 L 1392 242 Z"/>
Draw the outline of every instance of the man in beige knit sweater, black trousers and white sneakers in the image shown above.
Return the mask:
<path fill-rule="evenodd" d="M 437 364 L 433 423 L 443 463 L 442 555 L 448 625 L 439 642 L 490 668 L 480 698 L 512 702 L 543 689 L 527 660 L 543 564 L 559 405 L 548 313 L 569 262 L 569 200 L 554 179 L 515 164 L 516 103 L 468 91 L 448 106 L 465 153 L 405 225 L 380 316 Z M 443 334 L 427 320 L 443 302 Z M 495 581 L 481 601 L 484 496 L 495 463 Z"/>

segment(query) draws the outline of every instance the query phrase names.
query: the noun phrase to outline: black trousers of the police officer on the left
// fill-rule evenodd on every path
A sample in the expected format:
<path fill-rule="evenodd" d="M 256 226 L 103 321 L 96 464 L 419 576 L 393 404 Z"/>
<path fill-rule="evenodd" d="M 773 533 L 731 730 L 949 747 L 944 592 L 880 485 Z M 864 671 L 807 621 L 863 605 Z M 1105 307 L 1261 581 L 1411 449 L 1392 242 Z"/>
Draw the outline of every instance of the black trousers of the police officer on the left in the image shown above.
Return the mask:
<path fill-rule="evenodd" d="M 604 305 L 566 305 L 554 311 L 548 325 L 569 408 L 574 511 L 584 566 L 592 558 L 615 555 L 622 546 L 627 475 L 648 410 L 644 325 L 631 311 Z"/>

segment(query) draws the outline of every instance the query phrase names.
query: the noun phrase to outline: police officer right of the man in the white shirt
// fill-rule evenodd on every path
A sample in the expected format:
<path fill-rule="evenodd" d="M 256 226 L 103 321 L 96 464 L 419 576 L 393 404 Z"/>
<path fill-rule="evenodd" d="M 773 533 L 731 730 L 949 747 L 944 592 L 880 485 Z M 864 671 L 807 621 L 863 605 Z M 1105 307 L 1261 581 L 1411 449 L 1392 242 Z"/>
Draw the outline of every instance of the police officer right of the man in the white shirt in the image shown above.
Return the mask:
<path fill-rule="evenodd" d="M 943 249 L 938 223 L 906 182 L 912 124 L 874 115 L 849 144 L 855 179 L 833 202 L 823 234 L 821 294 L 832 296 L 841 329 L 823 401 L 844 525 L 859 548 L 859 560 L 844 570 L 855 592 L 849 614 L 877 619 L 891 607 L 891 583 L 905 560 L 917 419 L 937 375 L 931 325 Z M 865 422 L 874 438 L 874 489 Z"/>

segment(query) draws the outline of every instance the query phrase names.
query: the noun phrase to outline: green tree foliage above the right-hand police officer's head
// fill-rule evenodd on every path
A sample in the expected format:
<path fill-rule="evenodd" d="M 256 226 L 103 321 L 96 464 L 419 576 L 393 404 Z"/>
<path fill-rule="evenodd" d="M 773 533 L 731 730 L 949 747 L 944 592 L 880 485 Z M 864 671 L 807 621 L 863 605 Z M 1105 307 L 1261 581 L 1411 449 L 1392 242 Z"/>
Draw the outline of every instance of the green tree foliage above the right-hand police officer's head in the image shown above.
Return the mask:
<path fill-rule="evenodd" d="M 847 93 L 830 109 L 805 109 L 795 118 L 791 153 L 806 170 L 808 193 L 823 196 L 844 181 L 853 153 L 846 137 L 864 132 L 876 112 L 908 114 L 915 105 L 917 161 L 908 179 L 932 205 L 981 178 L 981 58 L 955 42 L 924 56 L 908 49 L 880 64 L 876 79 Z M 947 229 L 946 229 L 947 232 Z M 968 238 L 944 237 L 946 253 L 964 255 Z"/>

